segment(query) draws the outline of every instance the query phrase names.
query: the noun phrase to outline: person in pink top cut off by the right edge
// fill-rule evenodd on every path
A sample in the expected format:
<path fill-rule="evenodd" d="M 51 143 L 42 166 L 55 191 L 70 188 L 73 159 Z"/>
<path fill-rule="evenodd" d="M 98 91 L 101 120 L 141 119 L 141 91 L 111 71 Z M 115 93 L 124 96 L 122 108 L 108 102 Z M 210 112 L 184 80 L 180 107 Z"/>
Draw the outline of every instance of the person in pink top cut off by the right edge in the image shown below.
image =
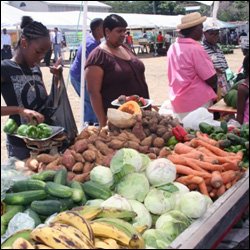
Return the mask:
<path fill-rule="evenodd" d="M 246 79 L 239 84 L 237 101 L 237 121 L 240 124 L 249 123 L 249 55 L 243 61 Z"/>

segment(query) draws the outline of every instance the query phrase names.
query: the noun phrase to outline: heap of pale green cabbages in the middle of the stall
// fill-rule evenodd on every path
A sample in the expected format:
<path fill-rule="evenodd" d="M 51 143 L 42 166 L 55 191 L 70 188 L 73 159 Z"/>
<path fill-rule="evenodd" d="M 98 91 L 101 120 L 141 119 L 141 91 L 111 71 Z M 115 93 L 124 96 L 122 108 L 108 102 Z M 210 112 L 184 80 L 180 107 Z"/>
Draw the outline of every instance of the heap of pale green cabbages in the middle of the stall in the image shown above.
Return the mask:
<path fill-rule="evenodd" d="M 175 182 L 176 167 L 171 161 L 151 161 L 134 149 L 117 151 L 110 168 L 95 167 L 90 179 L 110 188 L 114 195 L 87 205 L 136 212 L 131 223 L 135 227 L 147 226 L 143 234 L 147 249 L 167 248 L 212 203 L 209 197 Z"/>

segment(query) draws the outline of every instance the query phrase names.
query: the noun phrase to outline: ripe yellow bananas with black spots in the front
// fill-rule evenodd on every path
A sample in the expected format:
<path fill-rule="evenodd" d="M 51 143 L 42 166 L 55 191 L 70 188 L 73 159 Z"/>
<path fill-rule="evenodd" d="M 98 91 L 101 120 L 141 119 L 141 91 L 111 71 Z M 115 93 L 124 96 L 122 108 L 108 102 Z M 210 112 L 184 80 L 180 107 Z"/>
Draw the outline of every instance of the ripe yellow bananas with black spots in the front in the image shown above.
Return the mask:
<path fill-rule="evenodd" d="M 125 220 L 136 214 L 117 209 L 80 207 L 59 213 L 50 225 L 29 237 L 17 237 L 9 249 L 144 249 L 138 231 Z"/>

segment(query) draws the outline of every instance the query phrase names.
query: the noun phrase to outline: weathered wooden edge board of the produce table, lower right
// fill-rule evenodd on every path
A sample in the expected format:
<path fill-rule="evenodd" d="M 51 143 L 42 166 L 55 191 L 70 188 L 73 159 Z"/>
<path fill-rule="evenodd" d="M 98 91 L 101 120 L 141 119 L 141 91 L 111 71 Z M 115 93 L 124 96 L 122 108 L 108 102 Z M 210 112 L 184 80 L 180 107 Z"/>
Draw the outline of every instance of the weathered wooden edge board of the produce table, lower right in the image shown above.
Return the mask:
<path fill-rule="evenodd" d="M 249 170 L 170 245 L 169 249 L 215 249 L 249 206 Z"/>

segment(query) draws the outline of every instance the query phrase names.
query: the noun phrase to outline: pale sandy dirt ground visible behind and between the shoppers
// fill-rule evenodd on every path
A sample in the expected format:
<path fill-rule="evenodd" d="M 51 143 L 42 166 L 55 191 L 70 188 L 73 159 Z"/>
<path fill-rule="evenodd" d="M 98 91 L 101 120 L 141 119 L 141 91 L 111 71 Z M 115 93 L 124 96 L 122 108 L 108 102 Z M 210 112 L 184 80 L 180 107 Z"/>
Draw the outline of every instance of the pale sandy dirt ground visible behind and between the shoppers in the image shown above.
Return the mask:
<path fill-rule="evenodd" d="M 146 68 L 146 80 L 149 86 L 150 97 L 154 101 L 154 105 L 161 105 L 168 98 L 168 80 L 167 80 L 167 61 L 166 57 L 154 57 L 152 55 L 139 55 Z M 65 59 L 68 59 L 68 53 L 64 55 Z M 226 55 L 229 67 L 233 72 L 237 72 L 243 61 L 243 54 L 240 49 L 236 49 L 234 54 Z M 77 126 L 80 127 L 80 98 L 75 93 L 70 80 L 69 80 L 69 67 L 70 64 L 65 60 L 65 67 L 63 71 L 64 80 L 68 88 L 68 96 L 71 103 L 71 107 L 75 116 Z M 50 91 L 52 75 L 49 73 L 48 67 L 41 66 L 43 73 L 44 83 L 48 92 Z M 5 103 L 1 96 L 1 106 Z M 6 152 L 6 136 L 3 132 L 3 125 L 8 117 L 1 117 L 1 163 L 7 160 Z"/>

